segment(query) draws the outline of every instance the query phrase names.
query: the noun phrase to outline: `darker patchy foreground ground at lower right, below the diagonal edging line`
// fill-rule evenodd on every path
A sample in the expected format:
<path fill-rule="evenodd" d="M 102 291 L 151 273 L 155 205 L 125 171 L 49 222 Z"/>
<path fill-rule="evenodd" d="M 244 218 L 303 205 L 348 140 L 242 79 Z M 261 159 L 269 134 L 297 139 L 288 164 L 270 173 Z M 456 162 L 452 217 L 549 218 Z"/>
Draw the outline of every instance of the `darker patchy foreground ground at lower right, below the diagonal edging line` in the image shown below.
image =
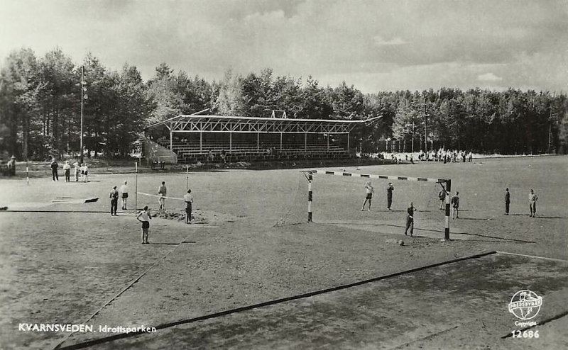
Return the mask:
<path fill-rule="evenodd" d="M 567 267 L 484 252 L 58 349 L 567 349 Z"/>

